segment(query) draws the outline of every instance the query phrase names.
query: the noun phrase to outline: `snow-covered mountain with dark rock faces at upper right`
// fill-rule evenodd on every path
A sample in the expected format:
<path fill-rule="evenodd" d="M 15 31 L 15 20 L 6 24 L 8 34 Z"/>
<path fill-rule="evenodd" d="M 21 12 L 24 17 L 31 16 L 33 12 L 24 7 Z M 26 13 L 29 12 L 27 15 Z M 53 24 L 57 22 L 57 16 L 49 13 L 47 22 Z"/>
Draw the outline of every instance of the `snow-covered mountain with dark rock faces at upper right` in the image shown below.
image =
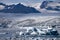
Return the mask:
<path fill-rule="evenodd" d="M 42 13 L 60 13 L 60 2 L 43 1 L 35 4 L 34 8 Z"/>

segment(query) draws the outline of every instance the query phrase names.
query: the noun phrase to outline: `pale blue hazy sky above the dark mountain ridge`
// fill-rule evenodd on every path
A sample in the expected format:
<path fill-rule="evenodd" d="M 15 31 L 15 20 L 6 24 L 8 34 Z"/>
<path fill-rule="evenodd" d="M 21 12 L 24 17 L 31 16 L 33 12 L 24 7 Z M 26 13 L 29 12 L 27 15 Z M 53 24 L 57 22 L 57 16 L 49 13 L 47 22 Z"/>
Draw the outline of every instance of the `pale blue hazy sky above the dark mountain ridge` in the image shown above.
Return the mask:
<path fill-rule="evenodd" d="M 41 3 L 42 1 L 45 1 L 45 0 L 0 0 L 0 2 L 6 3 L 6 4 L 25 3 L 28 5 L 35 4 L 35 3 Z M 53 1 L 56 1 L 56 0 L 53 0 Z"/>

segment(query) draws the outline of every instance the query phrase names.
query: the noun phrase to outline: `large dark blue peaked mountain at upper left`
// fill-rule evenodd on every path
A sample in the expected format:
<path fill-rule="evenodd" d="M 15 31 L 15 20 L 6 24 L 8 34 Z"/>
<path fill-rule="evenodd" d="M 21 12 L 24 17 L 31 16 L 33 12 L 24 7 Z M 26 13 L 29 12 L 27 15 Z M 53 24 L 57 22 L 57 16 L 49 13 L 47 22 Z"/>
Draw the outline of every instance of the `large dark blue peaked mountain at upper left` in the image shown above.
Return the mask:
<path fill-rule="evenodd" d="M 7 5 L 3 10 L 0 12 L 4 13 L 40 13 L 33 7 L 24 6 L 23 4 L 19 3 L 17 5 Z"/>

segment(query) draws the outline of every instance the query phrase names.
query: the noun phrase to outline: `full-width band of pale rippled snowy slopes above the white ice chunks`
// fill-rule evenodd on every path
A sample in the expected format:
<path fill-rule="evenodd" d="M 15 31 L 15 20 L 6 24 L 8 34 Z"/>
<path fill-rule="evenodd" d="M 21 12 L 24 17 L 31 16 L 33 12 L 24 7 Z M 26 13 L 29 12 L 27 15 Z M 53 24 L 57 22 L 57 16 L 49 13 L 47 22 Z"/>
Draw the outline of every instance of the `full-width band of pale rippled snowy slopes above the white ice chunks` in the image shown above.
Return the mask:
<path fill-rule="evenodd" d="M 44 20 L 45 19 L 45 20 Z M 17 21 L 16 21 L 17 20 Z M 60 26 L 60 18 L 35 18 L 35 19 L 0 19 L 0 27 L 40 27 L 40 26 L 49 26 L 49 25 L 57 25 Z M 4 26 L 2 26 L 4 25 Z"/>

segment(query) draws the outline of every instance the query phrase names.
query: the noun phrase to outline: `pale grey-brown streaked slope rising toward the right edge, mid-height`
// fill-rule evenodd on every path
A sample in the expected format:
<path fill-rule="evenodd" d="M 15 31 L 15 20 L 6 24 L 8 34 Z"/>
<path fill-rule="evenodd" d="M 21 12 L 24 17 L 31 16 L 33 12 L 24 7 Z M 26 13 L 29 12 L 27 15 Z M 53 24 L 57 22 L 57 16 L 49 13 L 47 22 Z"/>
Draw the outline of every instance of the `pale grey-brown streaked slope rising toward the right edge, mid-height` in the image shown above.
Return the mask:
<path fill-rule="evenodd" d="M 53 25 L 60 26 L 60 21 L 59 20 L 60 20 L 60 18 L 53 18 L 53 19 L 49 19 L 45 22 L 42 22 L 41 24 L 51 25 L 51 26 L 53 26 Z"/>

